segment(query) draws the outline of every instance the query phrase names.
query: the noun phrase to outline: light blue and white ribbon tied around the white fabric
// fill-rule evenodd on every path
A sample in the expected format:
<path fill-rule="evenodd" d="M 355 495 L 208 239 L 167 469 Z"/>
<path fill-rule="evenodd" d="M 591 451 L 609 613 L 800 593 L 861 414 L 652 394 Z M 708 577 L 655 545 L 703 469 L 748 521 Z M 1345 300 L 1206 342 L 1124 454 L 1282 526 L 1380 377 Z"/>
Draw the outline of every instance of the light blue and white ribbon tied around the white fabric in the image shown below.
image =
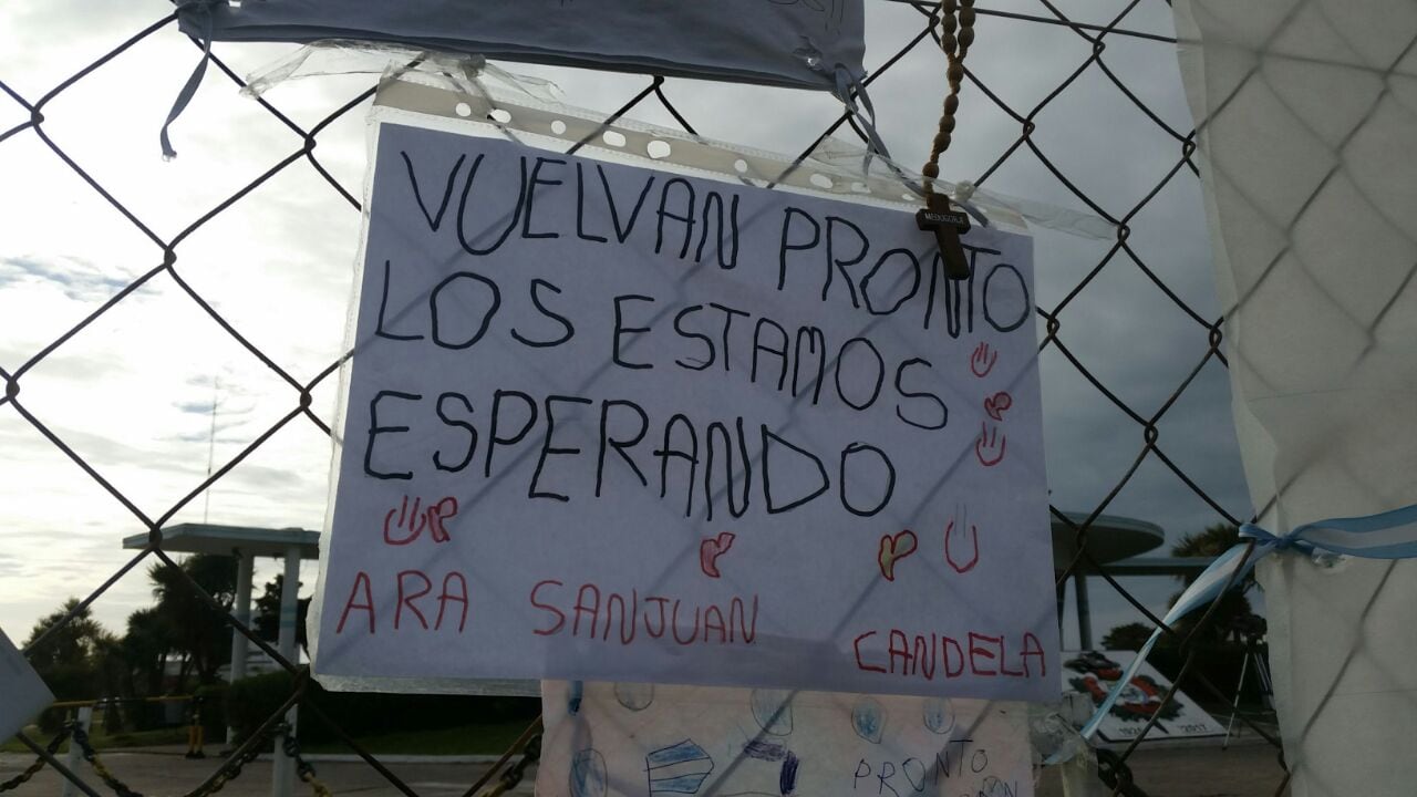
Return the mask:
<path fill-rule="evenodd" d="M 1246 523 L 1240 526 L 1240 537 L 1254 542 L 1243 542 L 1217 556 L 1210 567 L 1206 567 L 1204 573 L 1176 598 L 1176 606 L 1170 607 L 1170 611 L 1162 618 L 1166 625 L 1214 601 L 1220 593 L 1244 580 L 1254 570 L 1254 564 L 1260 559 L 1275 550 L 1295 549 L 1304 553 L 1321 550 L 1362 556 L 1365 559 L 1417 557 L 1417 503 L 1363 518 L 1333 518 L 1331 520 L 1305 523 L 1284 536 L 1274 536 L 1254 523 Z M 1251 545 L 1254 549 L 1248 550 Z M 1246 556 L 1247 550 L 1248 556 Z M 1146 640 L 1146 644 L 1136 651 L 1136 658 L 1127 668 L 1127 672 L 1122 674 L 1112 691 L 1108 692 L 1093 715 L 1093 719 L 1087 720 L 1087 725 L 1083 726 L 1081 733 L 1084 739 L 1091 739 L 1097 733 L 1097 728 L 1107 718 L 1107 712 L 1112 710 L 1112 703 L 1121 696 L 1122 689 L 1132 682 L 1136 671 L 1141 669 L 1162 634 L 1163 631 L 1156 628 Z"/>

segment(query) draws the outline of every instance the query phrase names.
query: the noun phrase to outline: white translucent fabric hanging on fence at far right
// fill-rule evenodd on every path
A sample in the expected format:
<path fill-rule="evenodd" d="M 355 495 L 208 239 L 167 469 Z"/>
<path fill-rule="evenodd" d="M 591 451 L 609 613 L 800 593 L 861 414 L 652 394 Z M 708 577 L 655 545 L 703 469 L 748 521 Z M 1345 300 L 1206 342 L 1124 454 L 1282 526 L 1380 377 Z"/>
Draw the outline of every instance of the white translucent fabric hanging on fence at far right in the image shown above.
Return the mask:
<path fill-rule="evenodd" d="M 1260 525 L 1417 501 L 1417 4 L 1182 0 Z M 1417 562 L 1258 566 L 1294 797 L 1410 794 Z"/>

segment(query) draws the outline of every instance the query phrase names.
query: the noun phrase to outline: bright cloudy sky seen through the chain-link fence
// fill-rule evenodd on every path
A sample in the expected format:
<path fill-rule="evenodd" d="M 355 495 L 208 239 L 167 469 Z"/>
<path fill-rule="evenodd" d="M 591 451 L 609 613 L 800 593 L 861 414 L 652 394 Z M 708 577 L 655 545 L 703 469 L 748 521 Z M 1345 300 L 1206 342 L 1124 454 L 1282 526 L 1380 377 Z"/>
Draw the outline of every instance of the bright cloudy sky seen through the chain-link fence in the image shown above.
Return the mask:
<path fill-rule="evenodd" d="M 891 57 L 920 30 L 920 14 L 887 0 L 867 3 L 867 67 Z M 1058 3 L 1078 21 L 1108 23 L 1127 3 Z M 1049 16 L 1032 0 L 981 7 Z M 0 81 L 37 102 L 84 65 L 170 10 L 163 0 L 91 3 L 17 0 L 0 6 Z M 1125 20 L 1132 30 L 1169 34 L 1162 0 L 1144 0 Z M 238 74 L 290 52 L 283 45 L 217 45 Z M 1061 26 L 981 17 L 969 68 L 990 91 L 1027 113 L 1091 54 Z M 300 147 L 300 139 L 210 71 L 174 125 L 179 157 L 164 163 L 157 130 L 198 51 L 167 26 L 118 55 L 44 106 L 44 132 L 108 189 L 149 233 L 85 184 L 33 130 L 0 142 L 0 367 L 20 379 L 20 403 L 44 428 L 92 465 L 149 518 L 167 513 L 217 467 L 298 407 L 296 391 L 222 330 L 170 275 L 159 274 L 81 332 L 62 335 L 162 262 L 157 240 L 171 240 L 232 193 Z M 928 44 L 896 64 L 871 89 L 881 135 L 898 160 L 922 162 L 944 95 L 941 54 Z M 1108 37 L 1107 67 L 1166 125 L 1192 126 L 1172 45 Z M 612 111 L 646 84 L 642 77 L 534 65 L 509 69 L 553 79 L 570 105 Z M 302 126 L 373 81 L 336 75 L 295 81 L 268 99 Z M 700 133 L 745 146 L 796 153 L 839 113 L 829 96 L 670 79 L 666 94 Z M 976 87 L 961 99 L 948 179 L 978 179 L 1015 145 L 1020 125 Z M 648 104 L 632 116 L 673 125 Z M 0 130 L 28 112 L 0 96 Z M 1034 118 L 1036 146 L 1078 189 L 1122 217 L 1172 170 L 1180 145 L 1146 118 L 1098 67 L 1083 72 Z M 319 136 L 316 155 L 359 194 L 366 169 L 364 108 Z M 1087 210 L 1024 146 L 985 183 L 1005 194 Z M 1182 170 L 1131 220 L 1131 248 L 1202 318 L 1213 295 L 1200 186 Z M 177 247 L 177 274 L 191 291 L 298 381 L 340 353 L 354 274 L 360 217 L 309 166 L 296 163 Z M 1039 305 L 1054 309 L 1110 247 L 1037 231 Z M 1118 252 L 1058 315 L 1058 336 L 1100 383 L 1142 417 L 1156 413 L 1206 350 L 1207 330 L 1187 316 L 1131 260 Z M 1060 352 L 1041 357 L 1047 467 L 1054 505 L 1088 512 L 1107 498 L 1144 445 L 1142 428 Z M 336 380 L 315 393 L 313 411 L 330 421 Z M 215 403 L 215 435 L 213 406 Z M 1209 363 L 1159 424 L 1158 445 L 1196 484 L 1237 516 L 1250 513 L 1224 369 Z M 126 562 L 122 537 L 142 530 L 132 512 L 11 406 L 0 407 L 0 627 L 23 640 L 34 621 L 69 596 L 84 596 Z M 324 518 L 329 438 L 295 418 L 170 523 L 201 522 L 319 529 Z M 1221 518 L 1148 457 L 1108 505 L 1110 513 L 1151 520 L 1170 539 Z M 1158 552 L 1162 553 L 1162 552 Z M 262 563 L 258 580 L 273 576 Z M 306 591 L 313 587 L 306 569 Z M 1172 583 L 1129 580 L 1153 610 Z M 1094 627 L 1138 618 L 1094 586 Z M 149 603 L 142 570 L 118 581 L 95 606 L 120 631 Z M 1067 640 L 1076 640 L 1068 623 Z"/>

